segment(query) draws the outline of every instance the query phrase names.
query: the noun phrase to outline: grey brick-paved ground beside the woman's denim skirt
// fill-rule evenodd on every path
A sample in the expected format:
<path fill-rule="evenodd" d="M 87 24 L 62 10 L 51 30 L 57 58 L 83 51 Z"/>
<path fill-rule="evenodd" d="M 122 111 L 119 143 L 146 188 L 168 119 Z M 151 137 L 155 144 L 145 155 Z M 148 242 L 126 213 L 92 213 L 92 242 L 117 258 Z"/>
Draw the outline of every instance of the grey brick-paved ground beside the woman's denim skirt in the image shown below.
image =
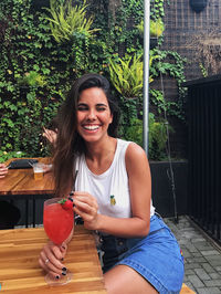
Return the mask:
<path fill-rule="evenodd" d="M 199 294 L 221 293 L 221 248 L 188 218 L 165 218 L 185 256 L 185 283 Z"/>

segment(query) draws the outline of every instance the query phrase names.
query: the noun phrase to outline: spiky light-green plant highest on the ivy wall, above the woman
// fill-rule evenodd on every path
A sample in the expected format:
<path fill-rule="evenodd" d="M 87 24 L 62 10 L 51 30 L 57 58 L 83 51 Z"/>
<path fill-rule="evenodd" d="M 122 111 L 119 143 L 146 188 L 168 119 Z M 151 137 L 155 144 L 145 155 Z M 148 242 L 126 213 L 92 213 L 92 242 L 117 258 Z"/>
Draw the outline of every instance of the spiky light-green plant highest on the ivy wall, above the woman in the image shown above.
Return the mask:
<path fill-rule="evenodd" d="M 92 36 L 97 30 L 93 30 L 92 17 L 86 18 L 86 2 L 81 6 L 73 6 L 72 0 L 65 3 L 51 1 L 51 8 L 45 8 L 51 13 L 51 18 L 45 17 L 50 21 L 52 35 L 57 43 L 72 41 L 75 34 Z"/>

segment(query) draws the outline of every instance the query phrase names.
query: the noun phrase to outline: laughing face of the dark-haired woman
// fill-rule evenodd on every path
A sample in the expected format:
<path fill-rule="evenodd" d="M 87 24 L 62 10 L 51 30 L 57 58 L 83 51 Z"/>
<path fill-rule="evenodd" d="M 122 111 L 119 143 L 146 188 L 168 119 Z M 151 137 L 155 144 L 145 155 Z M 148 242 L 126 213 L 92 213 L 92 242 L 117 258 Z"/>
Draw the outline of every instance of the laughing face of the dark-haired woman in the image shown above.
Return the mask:
<path fill-rule="evenodd" d="M 85 141 L 98 141 L 107 136 L 113 122 L 107 97 L 102 88 L 82 91 L 77 102 L 77 132 Z"/>

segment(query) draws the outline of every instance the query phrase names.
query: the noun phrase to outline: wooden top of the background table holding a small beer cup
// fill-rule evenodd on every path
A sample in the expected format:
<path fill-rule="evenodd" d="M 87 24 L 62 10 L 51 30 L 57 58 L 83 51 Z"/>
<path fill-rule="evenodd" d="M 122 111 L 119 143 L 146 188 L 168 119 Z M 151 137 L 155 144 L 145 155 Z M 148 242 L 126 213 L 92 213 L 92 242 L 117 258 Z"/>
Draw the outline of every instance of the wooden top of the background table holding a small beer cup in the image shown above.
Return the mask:
<path fill-rule="evenodd" d="M 10 159 L 7 161 L 9 164 Z M 49 164 L 49 158 L 38 158 Z M 45 172 L 42 180 L 34 180 L 33 169 L 9 169 L 8 175 L 0 179 L 0 196 L 6 195 L 52 195 L 54 182 L 51 172 Z"/>

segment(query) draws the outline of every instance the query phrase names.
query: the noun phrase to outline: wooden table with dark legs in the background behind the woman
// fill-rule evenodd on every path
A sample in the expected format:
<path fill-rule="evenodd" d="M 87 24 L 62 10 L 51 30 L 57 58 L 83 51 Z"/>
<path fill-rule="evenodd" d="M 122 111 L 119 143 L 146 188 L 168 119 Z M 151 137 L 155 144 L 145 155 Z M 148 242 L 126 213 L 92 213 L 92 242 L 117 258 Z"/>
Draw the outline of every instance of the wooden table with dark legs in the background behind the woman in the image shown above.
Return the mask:
<path fill-rule="evenodd" d="M 9 159 L 9 165 L 15 158 Z M 36 158 L 40 162 L 50 164 L 50 158 Z M 25 202 L 25 224 L 29 224 L 29 201 L 33 202 L 32 223 L 35 227 L 35 199 L 53 196 L 54 181 L 51 172 L 44 174 L 42 180 L 34 180 L 33 169 L 9 169 L 8 175 L 0 179 L 0 198 L 10 200 L 22 198 Z"/>

